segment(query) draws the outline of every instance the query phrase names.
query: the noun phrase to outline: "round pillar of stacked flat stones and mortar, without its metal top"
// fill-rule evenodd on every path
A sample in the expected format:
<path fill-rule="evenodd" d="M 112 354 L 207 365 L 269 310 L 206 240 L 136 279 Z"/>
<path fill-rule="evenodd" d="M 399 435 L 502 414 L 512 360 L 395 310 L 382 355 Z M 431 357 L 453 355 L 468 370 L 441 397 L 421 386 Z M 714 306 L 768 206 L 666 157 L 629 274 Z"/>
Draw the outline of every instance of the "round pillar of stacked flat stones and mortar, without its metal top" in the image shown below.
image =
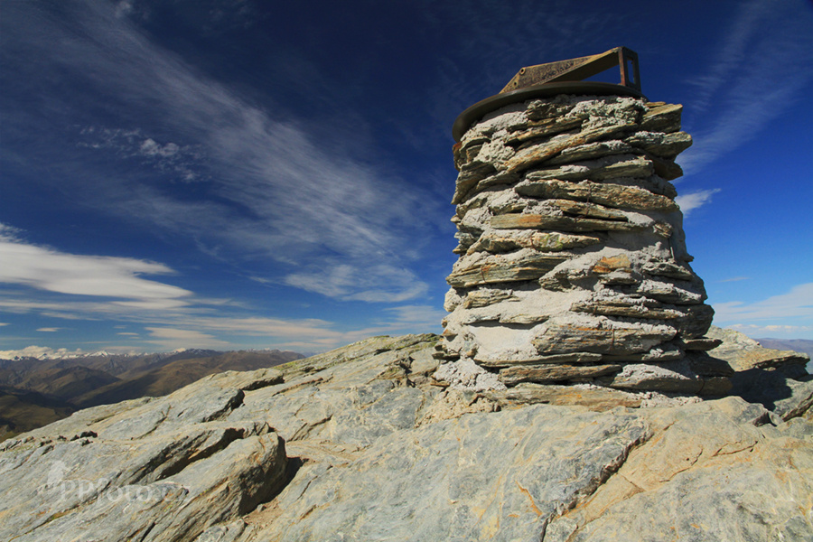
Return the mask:
<path fill-rule="evenodd" d="M 721 394 L 714 314 L 670 180 L 682 106 L 558 96 L 503 107 L 454 146 L 459 255 L 437 378 Z"/>

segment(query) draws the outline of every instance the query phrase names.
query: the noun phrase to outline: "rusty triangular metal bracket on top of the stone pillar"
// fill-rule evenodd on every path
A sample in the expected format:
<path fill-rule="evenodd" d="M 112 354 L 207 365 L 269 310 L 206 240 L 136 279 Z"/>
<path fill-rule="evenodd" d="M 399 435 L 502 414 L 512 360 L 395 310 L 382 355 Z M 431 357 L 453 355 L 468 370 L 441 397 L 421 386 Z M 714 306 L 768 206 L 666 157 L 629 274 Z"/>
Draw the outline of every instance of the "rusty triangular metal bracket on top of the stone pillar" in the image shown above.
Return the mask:
<path fill-rule="evenodd" d="M 601 54 L 522 68 L 500 94 L 534 85 L 581 81 L 615 66 L 621 69 L 621 85 L 640 92 L 638 54 L 626 47 L 616 47 Z"/>

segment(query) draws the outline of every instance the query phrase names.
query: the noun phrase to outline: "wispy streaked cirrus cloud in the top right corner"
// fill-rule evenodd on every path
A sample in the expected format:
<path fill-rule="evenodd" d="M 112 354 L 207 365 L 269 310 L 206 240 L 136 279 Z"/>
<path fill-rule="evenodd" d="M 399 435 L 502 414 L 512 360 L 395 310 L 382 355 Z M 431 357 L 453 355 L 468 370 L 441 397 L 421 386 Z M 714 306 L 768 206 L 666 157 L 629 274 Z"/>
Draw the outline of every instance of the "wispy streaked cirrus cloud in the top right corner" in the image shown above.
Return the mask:
<path fill-rule="evenodd" d="M 681 154 L 687 173 L 751 140 L 804 98 L 800 91 L 813 79 L 813 10 L 806 4 L 738 6 L 711 66 L 690 83 L 696 94 L 687 125 L 695 125 L 695 145 Z"/>

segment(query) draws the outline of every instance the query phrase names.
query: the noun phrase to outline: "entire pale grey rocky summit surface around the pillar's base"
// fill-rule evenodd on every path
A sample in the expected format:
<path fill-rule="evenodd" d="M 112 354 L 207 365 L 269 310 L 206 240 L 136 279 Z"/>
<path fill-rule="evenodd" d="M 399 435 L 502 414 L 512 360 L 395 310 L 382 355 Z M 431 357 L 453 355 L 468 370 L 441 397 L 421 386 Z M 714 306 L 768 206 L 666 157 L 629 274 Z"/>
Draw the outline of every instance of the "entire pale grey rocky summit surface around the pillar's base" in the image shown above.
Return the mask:
<path fill-rule="evenodd" d="M 0 539 L 813 539 L 807 359 L 719 334 L 772 391 L 444 388 L 407 335 L 81 410 L 0 444 Z"/>

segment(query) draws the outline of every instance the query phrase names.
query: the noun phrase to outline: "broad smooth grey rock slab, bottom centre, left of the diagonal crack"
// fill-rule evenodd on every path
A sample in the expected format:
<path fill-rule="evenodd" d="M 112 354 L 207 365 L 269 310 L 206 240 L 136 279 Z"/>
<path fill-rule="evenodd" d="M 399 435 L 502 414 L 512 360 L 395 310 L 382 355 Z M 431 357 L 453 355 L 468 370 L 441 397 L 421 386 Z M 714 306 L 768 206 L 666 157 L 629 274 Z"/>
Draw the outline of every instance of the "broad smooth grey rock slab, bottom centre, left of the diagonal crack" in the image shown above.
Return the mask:
<path fill-rule="evenodd" d="M 649 436 L 633 416 L 580 412 L 565 427 L 564 414 L 528 406 L 379 439 L 343 468 L 294 479 L 260 539 L 539 539 Z"/>

